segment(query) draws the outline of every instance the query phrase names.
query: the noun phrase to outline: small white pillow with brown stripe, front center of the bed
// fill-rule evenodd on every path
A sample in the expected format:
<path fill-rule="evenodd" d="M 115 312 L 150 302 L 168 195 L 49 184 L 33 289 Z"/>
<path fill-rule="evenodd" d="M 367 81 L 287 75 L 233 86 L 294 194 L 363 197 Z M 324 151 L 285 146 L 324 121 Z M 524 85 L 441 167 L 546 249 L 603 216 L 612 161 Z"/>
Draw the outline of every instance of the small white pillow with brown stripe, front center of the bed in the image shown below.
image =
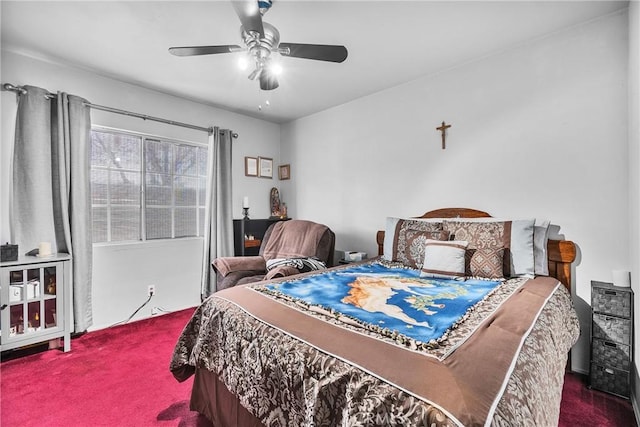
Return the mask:
<path fill-rule="evenodd" d="M 428 239 L 420 276 L 464 280 L 467 245 L 461 240 Z"/>

